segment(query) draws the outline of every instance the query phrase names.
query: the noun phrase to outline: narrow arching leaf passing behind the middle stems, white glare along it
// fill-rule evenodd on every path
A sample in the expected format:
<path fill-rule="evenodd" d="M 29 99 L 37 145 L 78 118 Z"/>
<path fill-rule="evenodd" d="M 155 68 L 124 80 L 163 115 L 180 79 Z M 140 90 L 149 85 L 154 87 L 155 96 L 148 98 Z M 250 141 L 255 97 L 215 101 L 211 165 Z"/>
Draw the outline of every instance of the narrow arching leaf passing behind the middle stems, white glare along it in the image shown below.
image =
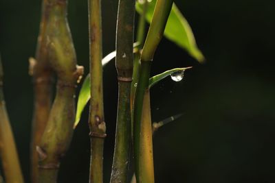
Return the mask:
<path fill-rule="evenodd" d="M 136 49 L 140 44 L 138 42 L 133 43 L 133 53 L 137 52 L 138 50 Z M 102 66 L 107 65 L 113 58 L 116 56 L 116 51 L 112 51 L 109 53 L 107 56 L 102 58 Z M 77 108 L 76 108 L 76 120 L 74 121 L 74 128 L 78 125 L 80 121 L 81 114 L 88 103 L 89 99 L 91 98 L 91 93 L 90 93 L 90 87 L 91 87 L 91 78 L 90 75 L 88 74 L 85 77 L 85 80 L 83 82 L 83 85 L 81 86 L 80 93 L 78 96 L 78 103 L 77 103 Z"/>

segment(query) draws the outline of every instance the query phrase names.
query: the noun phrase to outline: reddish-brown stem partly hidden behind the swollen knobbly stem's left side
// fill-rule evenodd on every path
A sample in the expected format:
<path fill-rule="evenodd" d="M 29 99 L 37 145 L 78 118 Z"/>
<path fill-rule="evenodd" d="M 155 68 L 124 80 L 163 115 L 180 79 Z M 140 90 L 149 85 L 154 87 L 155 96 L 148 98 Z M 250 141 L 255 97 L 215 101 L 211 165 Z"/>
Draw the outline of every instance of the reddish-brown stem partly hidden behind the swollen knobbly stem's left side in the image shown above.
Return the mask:
<path fill-rule="evenodd" d="M 50 62 L 47 57 L 47 35 L 48 24 L 47 2 L 43 0 L 40 23 L 40 33 L 37 41 L 36 60 L 30 58 L 30 75 L 34 81 L 34 114 L 32 119 L 32 143 L 31 143 L 31 174 L 32 183 L 38 182 L 38 161 L 36 146 L 39 145 L 41 137 L 47 125 L 52 106 L 53 76 Z"/>

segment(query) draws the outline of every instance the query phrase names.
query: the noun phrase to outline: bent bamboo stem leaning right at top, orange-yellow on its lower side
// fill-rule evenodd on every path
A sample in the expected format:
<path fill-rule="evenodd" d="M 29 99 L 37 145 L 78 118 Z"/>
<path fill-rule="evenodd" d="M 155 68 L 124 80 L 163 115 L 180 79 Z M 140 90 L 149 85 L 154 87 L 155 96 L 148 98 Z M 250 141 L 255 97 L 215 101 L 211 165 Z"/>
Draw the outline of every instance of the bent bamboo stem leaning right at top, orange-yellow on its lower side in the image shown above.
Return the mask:
<path fill-rule="evenodd" d="M 151 117 L 148 82 L 151 61 L 157 45 L 162 39 L 172 5 L 173 0 L 157 0 L 140 60 L 140 75 L 135 93 L 133 113 L 135 174 L 138 183 L 154 182 L 151 118 L 148 118 Z"/>

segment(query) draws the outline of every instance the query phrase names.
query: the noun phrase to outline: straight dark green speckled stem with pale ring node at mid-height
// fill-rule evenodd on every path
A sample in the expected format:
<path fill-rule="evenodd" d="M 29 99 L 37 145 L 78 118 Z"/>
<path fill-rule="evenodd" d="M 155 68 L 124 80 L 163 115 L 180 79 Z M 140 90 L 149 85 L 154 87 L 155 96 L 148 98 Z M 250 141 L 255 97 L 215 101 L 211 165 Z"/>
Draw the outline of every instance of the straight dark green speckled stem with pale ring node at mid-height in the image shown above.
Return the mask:
<path fill-rule="evenodd" d="M 135 1 L 119 1 L 116 34 L 117 56 L 115 60 L 115 66 L 118 71 L 118 115 L 110 181 L 112 183 L 126 182 L 129 169 L 134 13 Z"/>

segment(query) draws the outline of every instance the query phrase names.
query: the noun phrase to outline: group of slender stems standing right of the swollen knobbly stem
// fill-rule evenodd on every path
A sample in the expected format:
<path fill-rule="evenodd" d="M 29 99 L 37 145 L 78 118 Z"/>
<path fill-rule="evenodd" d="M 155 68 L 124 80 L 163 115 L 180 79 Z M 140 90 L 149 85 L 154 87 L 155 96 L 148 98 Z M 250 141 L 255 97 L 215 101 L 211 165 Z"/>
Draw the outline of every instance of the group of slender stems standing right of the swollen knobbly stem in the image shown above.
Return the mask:
<path fill-rule="evenodd" d="M 149 77 L 151 61 L 161 40 L 173 0 L 158 0 L 153 21 L 142 54 L 133 57 L 134 1 L 120 0 L 116 32 L 116 62 L 118 72 L 118 114 L 115 150 L 110 182 L 127 182 L 131 139 L 134 143 L 137 182 L 154 182 L 153 142 L 150 109 Z M 137 42 L 142 48 L 147 1 L 140 17 Z M 102 40 L 100 1 L 89 1 L 91 106 L 91 173 L 90 182 L 102 182 L 102 158 L 105 123 L 102 102 Z M 137 84 L 137 86 L 136 86 Z M 135 101 L 133 99 L 135 98 Z M 131 122 L 133 127 L 131 127 Z M 133 134 L 131 133 L 133 131 Z M 131 138 L 131 134 L 133 138 Z M 133 178 L 133 180 L 135 180 Z"/>

